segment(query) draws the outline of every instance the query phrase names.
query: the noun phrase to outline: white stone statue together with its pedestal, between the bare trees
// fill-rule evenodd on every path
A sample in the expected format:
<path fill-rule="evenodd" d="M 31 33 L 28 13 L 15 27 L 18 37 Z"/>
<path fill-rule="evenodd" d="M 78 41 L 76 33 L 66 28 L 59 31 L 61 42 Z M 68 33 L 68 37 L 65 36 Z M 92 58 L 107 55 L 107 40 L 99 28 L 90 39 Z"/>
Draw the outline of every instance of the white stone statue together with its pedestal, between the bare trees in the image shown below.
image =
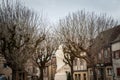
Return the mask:
<path fill-rule="evenodd" d="M 55 55 L 56 55 L 56 64 L 57 64 L 55 80 L 67 80 L 66 71 L 70 72 L 70 68 L 68 65 L 66 65 L 63 62 L 64 54 L 63 54 L 62 45 L 59 46 Z"/>

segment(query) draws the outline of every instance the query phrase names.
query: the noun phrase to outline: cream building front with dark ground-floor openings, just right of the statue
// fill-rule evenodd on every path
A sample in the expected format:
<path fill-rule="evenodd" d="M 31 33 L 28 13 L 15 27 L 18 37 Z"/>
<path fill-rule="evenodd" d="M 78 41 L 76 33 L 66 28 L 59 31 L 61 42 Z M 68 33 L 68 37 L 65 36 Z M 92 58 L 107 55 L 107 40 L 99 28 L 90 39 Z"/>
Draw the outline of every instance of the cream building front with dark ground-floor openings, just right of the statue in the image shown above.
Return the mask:
<path fill-rule="evenodd" d="M 74 80 L 88 80 L 87 62 L 84 59 L 75 58 L 73 64 Z"/>

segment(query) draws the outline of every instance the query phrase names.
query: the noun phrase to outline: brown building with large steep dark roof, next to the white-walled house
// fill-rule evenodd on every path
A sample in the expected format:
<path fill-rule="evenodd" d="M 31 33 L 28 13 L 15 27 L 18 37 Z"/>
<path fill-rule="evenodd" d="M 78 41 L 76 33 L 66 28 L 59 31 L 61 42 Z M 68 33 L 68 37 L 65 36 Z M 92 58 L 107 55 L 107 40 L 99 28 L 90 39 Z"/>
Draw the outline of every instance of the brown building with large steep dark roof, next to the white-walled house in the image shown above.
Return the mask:
<path fill-rule="evenodd" d="M 101 32 L 94 40 L 94 44 L 90 47 L 89 53 L 92 54 L 92 59 L 94 62 L 95 68 L 95 76 L 97 80 L 113 80 L 113 70 L 115 59 L 113 58 L 113 53 L 119 48 L 118 43 L 113 42 L 120 34 L 120 26 L 116 26 L 114 28 L 108 29 L 106 31 Z M 114 49 L 113 49 L 114 46 Z M 118 52 L 117 52 L 118 53 Z M 118 56 L 118 55 L 117 55 Z M 119 61 L 117 61 L 119 62 Z M 117 65 L 120 63 L 117 63 Z M 93 80 L 93 66 L 89 67 L 88 75 L 89 80 Z M 113 69 L 114 68 L 114 69 Z M 119 73 L 119 69 L 118 69 Z"/>

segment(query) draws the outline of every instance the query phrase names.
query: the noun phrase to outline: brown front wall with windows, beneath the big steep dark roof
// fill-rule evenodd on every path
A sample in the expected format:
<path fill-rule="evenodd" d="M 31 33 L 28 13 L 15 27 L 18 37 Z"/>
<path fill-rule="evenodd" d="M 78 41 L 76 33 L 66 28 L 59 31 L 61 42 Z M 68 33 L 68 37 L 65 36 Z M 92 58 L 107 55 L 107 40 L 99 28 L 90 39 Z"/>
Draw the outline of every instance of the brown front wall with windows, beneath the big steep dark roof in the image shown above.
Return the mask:
<path fill-rule="evenodd" d="M 104 47 L 97 54 L 96 63 L 97 80 L 113 80 L 112 56 L 110 46 Z"/>

